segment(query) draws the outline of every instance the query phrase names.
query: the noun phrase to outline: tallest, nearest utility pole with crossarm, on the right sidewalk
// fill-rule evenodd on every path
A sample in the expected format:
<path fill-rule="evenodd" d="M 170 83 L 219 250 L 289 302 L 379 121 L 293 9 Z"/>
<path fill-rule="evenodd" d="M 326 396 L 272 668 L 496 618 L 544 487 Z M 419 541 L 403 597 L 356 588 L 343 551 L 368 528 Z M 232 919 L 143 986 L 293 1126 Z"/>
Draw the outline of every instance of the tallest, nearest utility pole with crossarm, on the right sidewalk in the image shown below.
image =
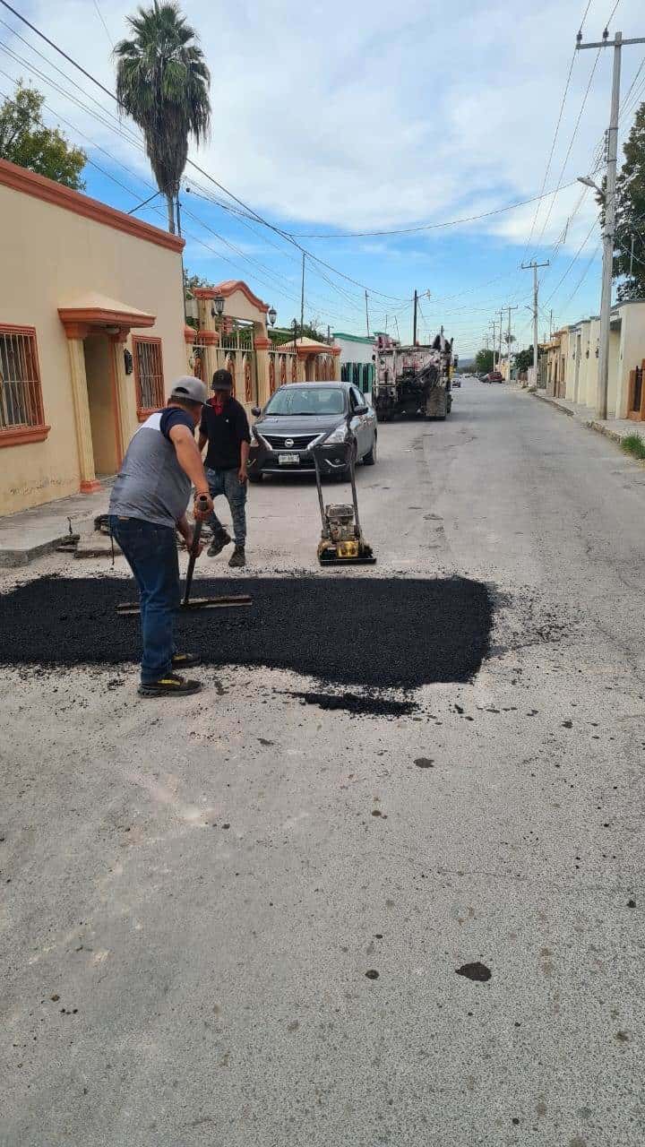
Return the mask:
<path fill-rule="evenodd" d="M 616 231 L 616 159 L 619 135 L 619 110 L 621 99 L 621 52 L 627 44 L 645 44 L 645 37 L 623 40 L 622 32 L 616 32 L 613 40 L 608 39 L 605 29 L 603 39 L 597 42 L 582 42 L 582 32 L 576 37 L 576 50 L 584 48 L 614 49 L 614 67 L 612 76 L 612 109 L 609 130 L 607 132 L 607 179 L 605 192 L 605 229 L 603 232 L 603 290 L 600 294 L 600 346 L 598 354 L 598 391 L 596 413 L 599 419 L 607 418 L 607 391 L 609 384 L 609 326 L 612 319 L 612 279 L 614 271 L 614 237 Z"/>

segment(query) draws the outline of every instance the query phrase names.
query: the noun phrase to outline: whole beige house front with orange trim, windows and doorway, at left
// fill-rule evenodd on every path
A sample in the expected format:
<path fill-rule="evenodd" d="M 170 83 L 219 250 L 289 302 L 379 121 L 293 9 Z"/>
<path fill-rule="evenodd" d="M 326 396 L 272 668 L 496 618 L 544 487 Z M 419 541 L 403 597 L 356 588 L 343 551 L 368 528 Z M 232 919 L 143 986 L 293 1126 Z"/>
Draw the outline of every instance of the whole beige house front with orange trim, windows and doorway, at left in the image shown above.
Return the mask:
<path fill-rule="evenodd" d="M 186 373 L 184 242 L 0 161 L 0 514 L 92 492 Z"/>

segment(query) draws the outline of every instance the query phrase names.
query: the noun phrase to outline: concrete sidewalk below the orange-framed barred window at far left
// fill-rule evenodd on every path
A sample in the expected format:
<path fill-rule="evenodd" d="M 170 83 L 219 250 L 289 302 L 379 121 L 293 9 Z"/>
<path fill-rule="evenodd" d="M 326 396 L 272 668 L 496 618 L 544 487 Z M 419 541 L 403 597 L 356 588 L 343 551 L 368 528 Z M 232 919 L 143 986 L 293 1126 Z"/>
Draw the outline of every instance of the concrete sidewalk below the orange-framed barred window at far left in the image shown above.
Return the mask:
<path fill-rule="evenodd" d="M 108 509 L 111 479 L 95 494 L 75 494 L 57 498 L 45 506 L 0 517 L 0 568 L 26 565 L 42 554 L 55 549 L 69 533 L 88 536 L 94 531 L 94 518 Z"/>

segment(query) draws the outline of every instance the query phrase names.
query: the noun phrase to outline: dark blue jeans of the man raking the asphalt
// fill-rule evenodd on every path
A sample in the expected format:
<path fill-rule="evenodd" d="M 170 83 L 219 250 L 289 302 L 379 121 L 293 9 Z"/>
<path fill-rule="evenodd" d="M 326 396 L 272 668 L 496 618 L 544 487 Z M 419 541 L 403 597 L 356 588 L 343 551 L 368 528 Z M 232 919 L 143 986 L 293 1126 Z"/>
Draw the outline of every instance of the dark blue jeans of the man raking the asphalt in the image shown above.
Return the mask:
<path fill-rule="evenodd" d="M 139 517 L 112 515 L 110 526 L 139 587 L 141 685 L 151 685 L 172 669 L 174 611 L 181 600 L 176 533 Z"/>

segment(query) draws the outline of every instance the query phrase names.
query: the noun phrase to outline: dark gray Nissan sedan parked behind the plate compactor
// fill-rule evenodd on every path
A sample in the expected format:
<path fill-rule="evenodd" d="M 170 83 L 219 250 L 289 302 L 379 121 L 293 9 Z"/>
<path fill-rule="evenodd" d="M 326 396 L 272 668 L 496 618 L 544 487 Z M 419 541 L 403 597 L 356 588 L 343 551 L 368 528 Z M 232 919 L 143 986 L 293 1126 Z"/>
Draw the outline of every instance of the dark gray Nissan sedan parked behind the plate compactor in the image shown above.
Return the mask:
<path fill-rule="evenodd" d="M 348 438 L 355 461 L 376 461 L 378 423 L 374 408 L 356 387 L 347 382 L 295 382 L 280 387 L 251 427 L 249 481 L 265 474 L 313 473 L 314 446 L 324 447 L 322 475 L 348 473 Z"/>

